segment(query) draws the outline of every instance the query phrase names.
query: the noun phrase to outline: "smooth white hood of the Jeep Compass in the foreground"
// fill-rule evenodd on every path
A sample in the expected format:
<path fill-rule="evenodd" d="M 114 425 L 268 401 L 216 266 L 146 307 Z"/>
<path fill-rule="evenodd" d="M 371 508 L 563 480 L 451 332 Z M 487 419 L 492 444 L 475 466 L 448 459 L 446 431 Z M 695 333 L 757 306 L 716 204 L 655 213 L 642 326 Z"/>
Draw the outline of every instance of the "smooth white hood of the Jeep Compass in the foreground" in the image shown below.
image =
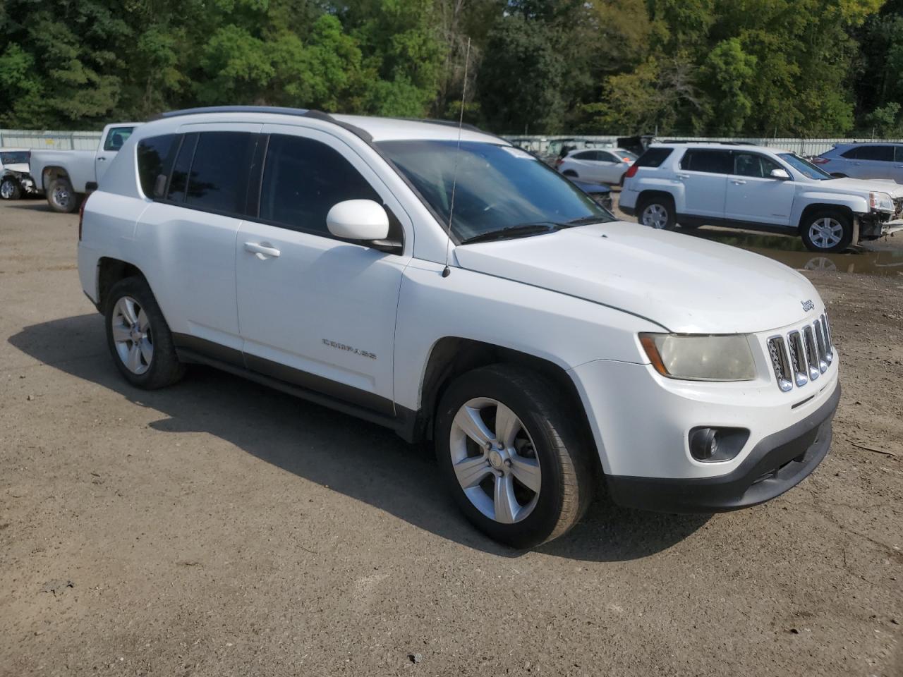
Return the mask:
<path fill-rule="evenodd" d="M 784 264 L 736 247 L 623 221 L 462 245 L 462 267 L 562 292 L 679 333 L 732 334 L 805 318 L 818 292 Z"/>

